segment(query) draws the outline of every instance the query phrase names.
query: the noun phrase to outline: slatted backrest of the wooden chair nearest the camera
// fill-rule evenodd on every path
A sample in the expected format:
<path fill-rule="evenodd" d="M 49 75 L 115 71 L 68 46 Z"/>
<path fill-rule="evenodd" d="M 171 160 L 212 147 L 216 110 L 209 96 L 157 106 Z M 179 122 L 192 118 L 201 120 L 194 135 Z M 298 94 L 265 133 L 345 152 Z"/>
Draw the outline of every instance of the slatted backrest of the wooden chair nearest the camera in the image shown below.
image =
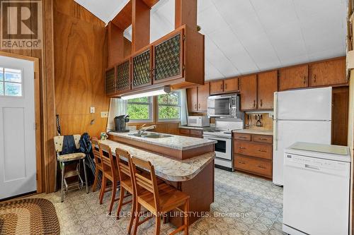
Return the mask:
<path fill-rule="evenodd" d="M 150 172 L 149 179 L 142 174 L 137 172 L 137 167 L 142 169 L 146 169 Z M 149 191 L 150 193 L 154 194 L 154 203 L 155 203 L 155 210 L 159 211 L 159 188 L 157 188 L 156 182 L 156 174 L 154 166 L 149 161 L 144 161 L 143 159 L 139 159 L 137 157 L 132 157 L 132 173 L 134 175 L 134 184 L 135 189 L 137 191 L 137 196 L 143 193 L 143 189 Z"/>

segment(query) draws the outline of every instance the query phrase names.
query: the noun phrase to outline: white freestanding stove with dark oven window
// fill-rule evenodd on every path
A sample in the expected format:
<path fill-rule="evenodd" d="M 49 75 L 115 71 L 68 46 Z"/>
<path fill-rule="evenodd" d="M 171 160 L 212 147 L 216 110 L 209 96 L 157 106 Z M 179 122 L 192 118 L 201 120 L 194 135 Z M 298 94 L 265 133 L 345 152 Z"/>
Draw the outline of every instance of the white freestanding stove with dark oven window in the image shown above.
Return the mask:
<path fill-rule="evenodd" d="M 244 128 L 242 119 L 217 118 L 215 131 L 203 131 L 203 138 L 216 140 L 215 167 L 234 171 L 234 157 L 232 150 L 232 131 Z"/>

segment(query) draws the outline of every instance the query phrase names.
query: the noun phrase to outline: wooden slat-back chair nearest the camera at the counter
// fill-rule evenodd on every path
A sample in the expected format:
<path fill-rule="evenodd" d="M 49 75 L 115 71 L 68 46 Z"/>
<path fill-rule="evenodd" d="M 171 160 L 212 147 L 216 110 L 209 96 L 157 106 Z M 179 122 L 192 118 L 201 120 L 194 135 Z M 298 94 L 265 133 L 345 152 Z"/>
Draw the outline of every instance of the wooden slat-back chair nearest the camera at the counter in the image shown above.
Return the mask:
<path fill-rule="evenodd" d="M 136 167 L 147 169 L 150 172 L 149 178 L 139 174 Z M 157 184 L 154 166 L 151 162 L 144 161 L 137 157 L 132 157 L 132 179 L 135 186 L 137 196 L 135 198 L 135 227 L 133 234 L 137 234 L 137 227 L 147 222 L 147 220 L 155 217 L 155 234 L 160 234 L 161 219 L 160 216 L 165 212 L 170 212 L 173 209 L 183 205 L 183 212 L 185 212 L 184 223 L 181 227 L 174 230 L 172 234 L 184 230 L 184 234 L 188 235 L 189 226 L 189 195 L 178 191 L 176 188 L 169 186 L 167 183 Z M 147 217 L 139 221 L 141 206 L 152 212 L 152 217 Z"/>

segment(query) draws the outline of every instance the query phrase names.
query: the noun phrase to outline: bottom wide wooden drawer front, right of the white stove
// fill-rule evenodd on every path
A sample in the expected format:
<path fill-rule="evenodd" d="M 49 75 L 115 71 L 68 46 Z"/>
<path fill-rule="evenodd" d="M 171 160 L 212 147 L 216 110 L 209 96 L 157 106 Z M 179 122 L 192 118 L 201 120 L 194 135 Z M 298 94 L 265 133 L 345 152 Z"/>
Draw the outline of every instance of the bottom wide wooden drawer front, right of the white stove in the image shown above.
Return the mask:
<path fill-rule="evenodd" d="M 270 160 L 236 155 L 234 158 L 234 165 L 236 169 L 272 177 L 272 161 Z"/>

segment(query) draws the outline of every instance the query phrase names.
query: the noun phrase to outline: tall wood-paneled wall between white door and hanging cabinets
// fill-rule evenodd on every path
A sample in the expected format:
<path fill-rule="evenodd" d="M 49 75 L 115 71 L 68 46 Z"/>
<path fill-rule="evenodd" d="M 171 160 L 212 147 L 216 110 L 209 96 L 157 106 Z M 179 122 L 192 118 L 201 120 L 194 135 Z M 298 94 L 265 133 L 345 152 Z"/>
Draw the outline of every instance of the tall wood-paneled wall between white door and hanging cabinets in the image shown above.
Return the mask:
<path fill-rule="evenodd" d="M 105 131 L 108 33 L 96 16 L 72 0 L 55 0 L 55 104 L 62 134 Z M 95 114 L 90 114 L 95 107 Z"/>

